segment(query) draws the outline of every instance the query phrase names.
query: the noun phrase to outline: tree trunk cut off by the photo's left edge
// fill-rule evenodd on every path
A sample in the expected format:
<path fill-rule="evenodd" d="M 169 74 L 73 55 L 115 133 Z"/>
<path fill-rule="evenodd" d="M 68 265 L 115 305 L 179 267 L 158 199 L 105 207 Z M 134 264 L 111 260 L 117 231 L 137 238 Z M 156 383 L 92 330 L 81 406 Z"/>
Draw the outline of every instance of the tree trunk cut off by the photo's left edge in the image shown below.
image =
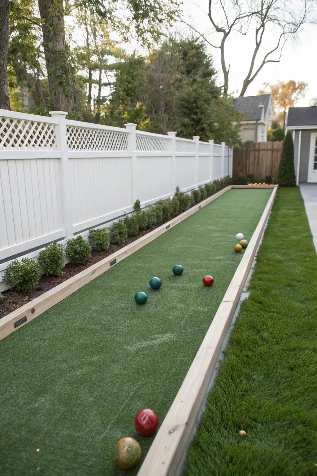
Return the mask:
<path fill-rule="evenodd" d="M 10 0 L 0 0 L 0 109 L 10 110 L 7 60 L 10 37 Z"/>

